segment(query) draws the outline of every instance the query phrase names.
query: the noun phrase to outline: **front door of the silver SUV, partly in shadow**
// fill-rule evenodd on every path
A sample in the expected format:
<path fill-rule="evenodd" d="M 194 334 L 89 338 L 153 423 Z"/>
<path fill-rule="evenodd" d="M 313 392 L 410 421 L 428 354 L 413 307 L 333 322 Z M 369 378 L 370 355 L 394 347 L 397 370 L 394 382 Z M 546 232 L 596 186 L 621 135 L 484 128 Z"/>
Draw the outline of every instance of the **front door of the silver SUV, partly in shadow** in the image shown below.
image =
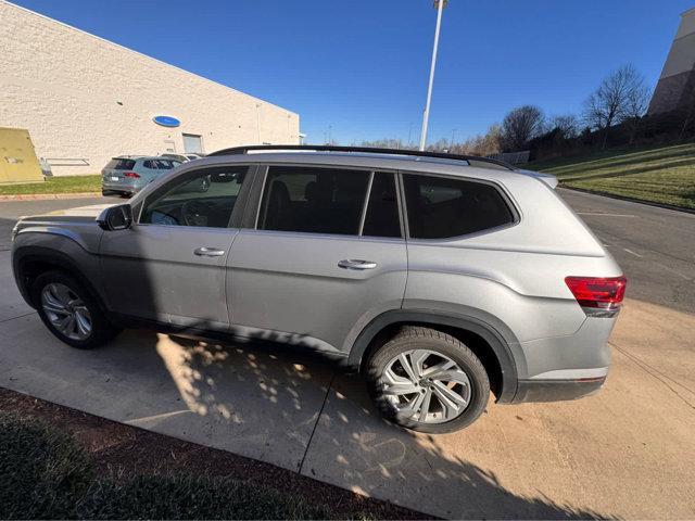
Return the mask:
<path fill-rule="evenodd" d="M 130 228 L 104 232 L 101 272 L 110 309 L 226 331 L 225 265 L 248 178 L 248 166 L 181 173 L 146 198 Z"/>

